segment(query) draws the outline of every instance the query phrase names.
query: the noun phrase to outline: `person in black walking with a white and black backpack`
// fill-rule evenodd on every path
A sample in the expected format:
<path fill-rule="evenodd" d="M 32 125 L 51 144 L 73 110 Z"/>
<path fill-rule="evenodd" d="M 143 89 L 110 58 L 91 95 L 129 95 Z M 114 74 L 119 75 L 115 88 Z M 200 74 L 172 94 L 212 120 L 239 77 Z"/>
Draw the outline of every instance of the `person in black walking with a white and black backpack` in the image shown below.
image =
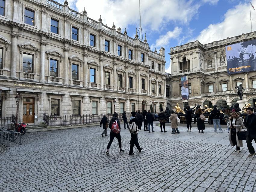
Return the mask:
<path fill-rule="evenodd" d="M 132 111 L 129 123 L 130 123 L 129 131 L 131 132 L 129 155 L 134 155 L 134 153 L 133 153 L 134 144 L 137 147 L 137 149 L 139 150 L 139 152 L 141 152 L 141 150 L 142 150 L 142 147 L 139 146 L 138 130 L 136 129 L 135 132 L 132 132 L 132 129 L 134 129 L 134 126 L 135 126 L 135 128 L 137 128 L 139 125 L 139 122 L 136 119 L 136 112 Z"/>

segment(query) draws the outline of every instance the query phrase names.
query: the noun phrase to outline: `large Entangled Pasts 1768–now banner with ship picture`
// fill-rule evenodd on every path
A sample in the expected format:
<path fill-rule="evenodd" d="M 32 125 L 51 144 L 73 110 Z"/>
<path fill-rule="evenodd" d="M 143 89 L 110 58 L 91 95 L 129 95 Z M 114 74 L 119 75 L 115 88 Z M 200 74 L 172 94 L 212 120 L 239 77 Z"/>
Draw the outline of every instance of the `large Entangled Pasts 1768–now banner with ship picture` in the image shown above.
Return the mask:
<path fill-rule="evenodd" d="M 226 46 L 227 73 L 256 70 L 256 39 Z"/>

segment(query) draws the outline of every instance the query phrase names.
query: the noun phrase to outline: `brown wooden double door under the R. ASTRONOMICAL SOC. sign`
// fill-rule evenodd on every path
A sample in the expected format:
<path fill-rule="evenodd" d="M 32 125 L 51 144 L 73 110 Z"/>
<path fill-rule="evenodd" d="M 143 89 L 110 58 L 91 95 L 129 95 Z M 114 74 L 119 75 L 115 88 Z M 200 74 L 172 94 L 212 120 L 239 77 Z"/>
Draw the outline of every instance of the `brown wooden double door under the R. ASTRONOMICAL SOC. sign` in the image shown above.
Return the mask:
<path fill-rule="evenodd" d="M 35 103 L 34 98 L 23 98 L 23 119 L 24 123 L 34 123 Z"/>

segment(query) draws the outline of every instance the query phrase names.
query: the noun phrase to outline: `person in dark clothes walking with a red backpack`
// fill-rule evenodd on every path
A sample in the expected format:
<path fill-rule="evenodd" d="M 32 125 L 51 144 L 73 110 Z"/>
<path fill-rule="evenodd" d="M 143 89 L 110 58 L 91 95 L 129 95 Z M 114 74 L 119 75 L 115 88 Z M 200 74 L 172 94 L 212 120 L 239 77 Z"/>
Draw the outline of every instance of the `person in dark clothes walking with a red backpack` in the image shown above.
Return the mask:
<path fill-rule="evenodd" d="M 112 117 L 111 121 L 109 122 L 109 125 L 108 127 L 111 129 L 112 127 L 112 124 L 117 120 L 117 124 L 120 128 L 120 121 L 118 119 L 118 113 L 114 113 L 114 117 Z M 120 129 L 121 131 L 121 129 Z M 120 149 L 120 152 L 123 152 L 124 150 L 122 150 L 122 142 L 121 142 L 121 135 L 120 135 L 120 132 L 115 134 L 112 130 L 110 131 L 110 137 L 109 137 L 109 143 L 108 143 L 108 147 L 107 147 L 107 152 L 106 152 L 106 155 L 110 155 L 109 154 L 109 148 L 114 140 L 114 138 L 117 138 L 118 140 L 118 145 L 119 145 L 119 149 Z"/>

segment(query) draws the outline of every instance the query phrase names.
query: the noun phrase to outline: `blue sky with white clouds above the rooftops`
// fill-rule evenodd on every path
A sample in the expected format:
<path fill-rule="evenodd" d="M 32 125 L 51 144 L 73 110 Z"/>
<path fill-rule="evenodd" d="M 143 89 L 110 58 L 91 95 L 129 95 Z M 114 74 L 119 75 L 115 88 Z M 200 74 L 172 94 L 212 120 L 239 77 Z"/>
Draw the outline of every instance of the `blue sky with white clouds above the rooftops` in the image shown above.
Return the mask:
<path fill-rule="evenodd" d="M 139 28 L 139 0 L 67 0 L 70 8 L 135 36 Z M 58 2 L 61 2 L 58 0 Z M 249 33 L 249 1 L 245 0 L 141 0 L 142 32 L 152 51 L 165 48 L 166 72 L 170 73 L 171 47 L 199 40 L 206 44 Z M 251 1 L 256 9 L 256 0 Z M 256 11 L 251 8 L 253 31 Z M 144 35 L 143 35 L 144 36 Z M 143 37 L 144 38 L 144 37 Z"/>

